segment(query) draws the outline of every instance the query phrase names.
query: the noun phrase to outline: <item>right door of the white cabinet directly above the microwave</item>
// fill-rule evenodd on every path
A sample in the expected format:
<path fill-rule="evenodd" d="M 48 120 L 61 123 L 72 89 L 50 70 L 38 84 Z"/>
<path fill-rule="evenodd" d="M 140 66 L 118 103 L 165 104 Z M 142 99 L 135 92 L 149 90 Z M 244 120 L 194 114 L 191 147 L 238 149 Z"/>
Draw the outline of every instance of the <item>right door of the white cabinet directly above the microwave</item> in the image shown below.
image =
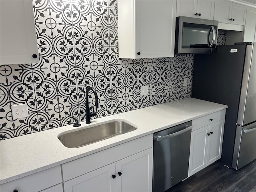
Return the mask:
<path fill-rule="evenodd" d="M 197 13 L 201 14 L 198 18 L 213 20 L 215 0 L 198 0 Z"/>

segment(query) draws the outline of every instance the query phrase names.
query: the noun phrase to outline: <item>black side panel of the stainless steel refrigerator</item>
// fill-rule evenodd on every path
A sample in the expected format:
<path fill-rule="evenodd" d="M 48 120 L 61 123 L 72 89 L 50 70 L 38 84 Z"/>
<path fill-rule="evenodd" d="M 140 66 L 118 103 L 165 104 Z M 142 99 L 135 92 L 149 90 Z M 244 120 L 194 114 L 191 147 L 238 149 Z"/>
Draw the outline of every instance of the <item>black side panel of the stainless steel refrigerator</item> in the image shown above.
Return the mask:
<path fill-rule="evenodd" d="M 230 53 L 230 49 L 237 49 Z M 242 85 L 245 45 L 218 46 L 217 52 L 195 55 L 192 97 L 228 105 L 220 163 L 231 167 Z"/>

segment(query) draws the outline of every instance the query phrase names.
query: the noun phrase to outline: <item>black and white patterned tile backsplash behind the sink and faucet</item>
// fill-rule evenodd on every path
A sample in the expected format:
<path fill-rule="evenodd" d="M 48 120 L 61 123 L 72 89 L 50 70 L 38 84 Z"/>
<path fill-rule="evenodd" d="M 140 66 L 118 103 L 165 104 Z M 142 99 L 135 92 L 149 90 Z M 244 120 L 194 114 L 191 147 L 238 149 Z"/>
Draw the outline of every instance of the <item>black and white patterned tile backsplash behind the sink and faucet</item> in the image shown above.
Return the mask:
<path fill-rule="evenodd" d="M 33 5 L 40 63 L 0 66 L 0 140 L 85 121 L 87 86 L 98 93 L 97 118 L 191 96 L 193 55 L 118 58 L 116 0 Z M 13 119 L 10 106 L 23 103 L 29 116 Z"/>

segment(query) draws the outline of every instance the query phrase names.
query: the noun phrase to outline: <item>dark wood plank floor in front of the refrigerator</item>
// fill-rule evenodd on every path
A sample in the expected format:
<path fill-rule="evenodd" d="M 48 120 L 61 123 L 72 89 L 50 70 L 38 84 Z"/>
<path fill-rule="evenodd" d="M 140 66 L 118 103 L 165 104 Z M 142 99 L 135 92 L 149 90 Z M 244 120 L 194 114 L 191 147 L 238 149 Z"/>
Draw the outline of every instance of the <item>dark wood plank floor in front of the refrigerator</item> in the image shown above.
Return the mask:
<path fill-rule="evenodd" d="M 256 192 L 256 160 L 239 170 L 215 162 L 166 192 Z"/>

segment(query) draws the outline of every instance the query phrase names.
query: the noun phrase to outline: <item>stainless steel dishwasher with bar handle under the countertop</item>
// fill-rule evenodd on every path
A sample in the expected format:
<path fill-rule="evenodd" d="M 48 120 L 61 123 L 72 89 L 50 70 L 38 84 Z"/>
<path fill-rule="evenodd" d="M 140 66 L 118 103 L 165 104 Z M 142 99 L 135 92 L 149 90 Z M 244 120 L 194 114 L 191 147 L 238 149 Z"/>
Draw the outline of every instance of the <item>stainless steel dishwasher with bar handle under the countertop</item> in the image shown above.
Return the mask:
<path fill-rule="evenodd" d="M 188 177 L 191 129 L 189 121 L 154 134 L 154 192 L 164 192 Z"/>

